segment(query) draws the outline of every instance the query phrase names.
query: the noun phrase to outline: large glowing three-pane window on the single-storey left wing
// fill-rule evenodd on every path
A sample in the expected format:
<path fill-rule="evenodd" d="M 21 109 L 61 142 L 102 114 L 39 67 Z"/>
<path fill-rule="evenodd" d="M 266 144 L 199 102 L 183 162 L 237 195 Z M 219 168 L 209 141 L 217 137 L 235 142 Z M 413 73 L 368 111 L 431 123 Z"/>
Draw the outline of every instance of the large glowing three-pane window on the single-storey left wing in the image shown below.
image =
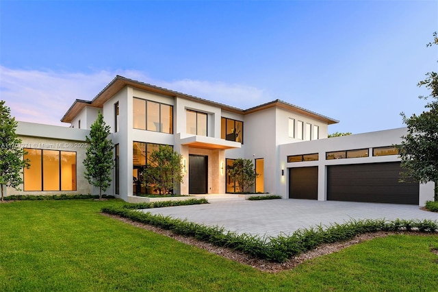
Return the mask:
<path fill-rule="evenodd" d="M 76 152 L 27 149 L 30 160 L 24 170 L 25 191 L 76 191 Z"/>

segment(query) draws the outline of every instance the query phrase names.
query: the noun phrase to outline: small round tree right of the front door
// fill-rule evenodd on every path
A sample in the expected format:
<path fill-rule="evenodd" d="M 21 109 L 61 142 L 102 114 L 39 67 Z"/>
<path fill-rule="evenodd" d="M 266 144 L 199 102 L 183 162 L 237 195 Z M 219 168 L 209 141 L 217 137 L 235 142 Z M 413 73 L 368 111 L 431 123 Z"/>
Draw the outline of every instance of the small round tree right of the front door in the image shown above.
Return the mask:
<path fill-rule="evenodd" d="M 244 193 L 253 186 L 255 179 L 259 176 L 259 173 L 255 172 L 253 161 L 242 158 L 234 160 L 227 172 L 231 181 L 237 183 L 240 193 Z"/>

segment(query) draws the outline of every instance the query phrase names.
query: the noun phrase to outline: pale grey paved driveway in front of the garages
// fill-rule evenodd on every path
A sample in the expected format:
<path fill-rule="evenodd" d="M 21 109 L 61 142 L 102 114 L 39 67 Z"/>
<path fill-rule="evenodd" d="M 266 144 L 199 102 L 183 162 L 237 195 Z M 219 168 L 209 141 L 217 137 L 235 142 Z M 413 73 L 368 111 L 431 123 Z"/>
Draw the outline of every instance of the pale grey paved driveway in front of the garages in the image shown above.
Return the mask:
<path fill-rule="evenodd" d="M 208 195 L 205 196 L 208 199 Z M 313 201 L 306 199 L 271 199 L 262 201 L 214 200 L 211 204 L 146 209 L 207 226 L 223 226 L 226 230 L 260 236 L 289 234 L 298 228 L 318 224 L 344 223 L 350 219 L 431 219 L 437 212 L 420 210 L 418 206 L 357 202 Z"/>

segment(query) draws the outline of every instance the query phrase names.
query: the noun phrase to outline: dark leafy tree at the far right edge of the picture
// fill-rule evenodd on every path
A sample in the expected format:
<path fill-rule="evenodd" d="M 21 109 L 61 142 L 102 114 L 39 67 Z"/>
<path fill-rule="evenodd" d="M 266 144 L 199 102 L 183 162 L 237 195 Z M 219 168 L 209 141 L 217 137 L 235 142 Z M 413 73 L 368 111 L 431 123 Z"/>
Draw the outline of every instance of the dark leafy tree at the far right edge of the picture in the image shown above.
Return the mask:
<path fill-rule="evenodd" d="M 437 33 L 433 36 L 434 41 L 429 42 L 427 47 L 438 45 Z M 431 91 L 428 96 L 420 96 L 420 99 L 428 99 L 424 106 L 428 110 L 409 118 L 401 113 L 408 128 L 408 134 L 402 136 L 402 143 L 398 145 L 401 166 L 406 169 L 402 175 L 422 183 L 435 182 L 435 201 L 438 201 L 438 74 L 426 73 L 426 79 L 418 82 L 417 86 Z"/>

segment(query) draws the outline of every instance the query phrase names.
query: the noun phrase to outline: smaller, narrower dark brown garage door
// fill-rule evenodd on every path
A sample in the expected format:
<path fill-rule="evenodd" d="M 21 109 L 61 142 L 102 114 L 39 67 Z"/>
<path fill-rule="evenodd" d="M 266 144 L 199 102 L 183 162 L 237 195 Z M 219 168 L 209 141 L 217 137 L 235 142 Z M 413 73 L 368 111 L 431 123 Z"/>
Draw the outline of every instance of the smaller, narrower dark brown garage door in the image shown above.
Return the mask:
<path fill-rule="evenodd" d="M 318 199 L 318 167 L 289 169 L 289 199 Z"/>

